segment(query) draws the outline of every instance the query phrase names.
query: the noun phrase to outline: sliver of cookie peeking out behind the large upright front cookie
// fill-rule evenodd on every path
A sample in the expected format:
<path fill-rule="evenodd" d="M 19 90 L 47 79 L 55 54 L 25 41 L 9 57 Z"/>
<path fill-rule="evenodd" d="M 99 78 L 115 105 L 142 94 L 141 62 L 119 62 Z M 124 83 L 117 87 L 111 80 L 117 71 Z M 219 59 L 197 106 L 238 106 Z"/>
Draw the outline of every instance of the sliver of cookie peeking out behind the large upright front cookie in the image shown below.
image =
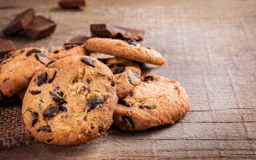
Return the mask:
<path fill-rule="evenodd" d="M 50 59 L 63 59 L 72 55 L 89 55 L 84 45 L 65 45 L 47 54 Z"/>

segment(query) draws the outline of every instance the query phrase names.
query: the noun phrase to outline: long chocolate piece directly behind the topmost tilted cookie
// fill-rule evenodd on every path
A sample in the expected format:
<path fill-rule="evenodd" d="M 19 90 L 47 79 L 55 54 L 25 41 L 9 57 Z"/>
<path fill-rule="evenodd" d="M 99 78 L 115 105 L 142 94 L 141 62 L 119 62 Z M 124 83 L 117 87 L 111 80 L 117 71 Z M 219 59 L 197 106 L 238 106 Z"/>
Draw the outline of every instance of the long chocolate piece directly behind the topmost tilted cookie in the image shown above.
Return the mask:
<path fill-rule="evenodd" d="M 108 37 L 113 39 L 135 39 L 142 41 L 145 35 L 143 29 L 131 29 L 107 23 L 91 24 L 91 37 Z"/>

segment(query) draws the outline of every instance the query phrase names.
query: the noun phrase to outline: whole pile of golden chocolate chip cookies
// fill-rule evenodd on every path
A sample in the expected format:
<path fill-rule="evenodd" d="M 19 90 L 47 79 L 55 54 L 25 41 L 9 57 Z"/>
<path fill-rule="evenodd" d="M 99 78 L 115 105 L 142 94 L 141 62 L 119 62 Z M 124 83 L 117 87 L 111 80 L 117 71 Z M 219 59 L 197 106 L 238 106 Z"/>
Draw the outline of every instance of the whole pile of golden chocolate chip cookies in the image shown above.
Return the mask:
<path fill-rule="evenodd" d="M 92 52 L 115 57 L 99 61 Z M 37 48 L 11 51 L 0 63 L 0 98 L 20 95 L 29 131 L 54 145 L 86 143 L 112 124 L 123 131 L 173 124 L 189 109 L 185 89 L 172 79 L 141 73 L 136 61 L 165 62 L 135 40 L 97 37 L 48 54 Z"/>

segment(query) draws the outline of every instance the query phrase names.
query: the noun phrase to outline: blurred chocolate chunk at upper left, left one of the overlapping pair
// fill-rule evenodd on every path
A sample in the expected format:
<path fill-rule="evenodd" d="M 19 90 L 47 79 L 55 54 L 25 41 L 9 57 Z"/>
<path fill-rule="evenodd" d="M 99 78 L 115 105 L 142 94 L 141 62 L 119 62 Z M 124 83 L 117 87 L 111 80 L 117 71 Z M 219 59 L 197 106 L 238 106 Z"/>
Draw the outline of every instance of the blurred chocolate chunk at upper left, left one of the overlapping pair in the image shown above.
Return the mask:
<path fill-rule="evenodd" d="M 5 27 L 5 29 L 3 29 L 3 34 L 5 36 L 8 36 L 25 29 L 27 25 L 31 23 L 34 16 L 35 16 L 35 9 L 32 9 L 32 8 L 27 9 L 26 11 L 23 11 L 23 13 L 16 15 L 13 21 L 11 21 Z"/>

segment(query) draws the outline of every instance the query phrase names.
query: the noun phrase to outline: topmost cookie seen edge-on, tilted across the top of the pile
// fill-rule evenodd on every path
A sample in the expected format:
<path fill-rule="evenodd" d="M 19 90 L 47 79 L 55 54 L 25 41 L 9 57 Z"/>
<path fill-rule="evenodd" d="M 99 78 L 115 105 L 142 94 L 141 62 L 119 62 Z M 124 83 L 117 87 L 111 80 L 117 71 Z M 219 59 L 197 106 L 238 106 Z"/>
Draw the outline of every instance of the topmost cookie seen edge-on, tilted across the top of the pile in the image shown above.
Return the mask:
<path fill-rule="evenodd" d="M 141 47 L 135 40 L 123 41 L 120 39 L 91 38 L 85 42 L 85 49 L 91 52 L 105 53 L 117 57 L 163 65 L 165 59 L 152 48 Z"/>

